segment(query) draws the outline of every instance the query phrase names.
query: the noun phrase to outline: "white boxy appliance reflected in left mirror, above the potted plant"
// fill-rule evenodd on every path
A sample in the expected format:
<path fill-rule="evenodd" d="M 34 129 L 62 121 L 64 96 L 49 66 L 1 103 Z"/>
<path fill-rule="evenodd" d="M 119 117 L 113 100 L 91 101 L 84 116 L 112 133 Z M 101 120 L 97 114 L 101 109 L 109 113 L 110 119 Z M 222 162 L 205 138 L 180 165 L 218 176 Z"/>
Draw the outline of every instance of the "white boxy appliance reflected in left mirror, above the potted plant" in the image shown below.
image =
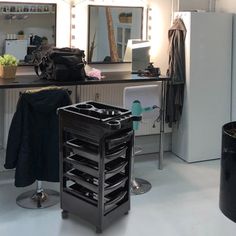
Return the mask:
<path fill-rule="evenodd" d="M 18 60 L 24 60 L 27 54 L 27 40 L 5 40 L 5 53 L 12 54 Z"/>

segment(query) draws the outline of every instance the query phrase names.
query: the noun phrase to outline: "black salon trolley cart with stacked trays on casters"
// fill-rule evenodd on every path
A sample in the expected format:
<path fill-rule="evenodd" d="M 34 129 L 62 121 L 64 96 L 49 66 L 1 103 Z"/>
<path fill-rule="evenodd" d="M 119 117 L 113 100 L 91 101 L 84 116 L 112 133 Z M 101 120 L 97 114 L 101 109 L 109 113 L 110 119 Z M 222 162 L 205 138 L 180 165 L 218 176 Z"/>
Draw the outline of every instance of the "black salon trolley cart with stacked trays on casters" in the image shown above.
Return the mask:
<path fill-rule="evenodd" d="M 62 218 L 76 214 L 101 233 L 130 210 L 131 112 L 88 101 L 58 114 Z"/>

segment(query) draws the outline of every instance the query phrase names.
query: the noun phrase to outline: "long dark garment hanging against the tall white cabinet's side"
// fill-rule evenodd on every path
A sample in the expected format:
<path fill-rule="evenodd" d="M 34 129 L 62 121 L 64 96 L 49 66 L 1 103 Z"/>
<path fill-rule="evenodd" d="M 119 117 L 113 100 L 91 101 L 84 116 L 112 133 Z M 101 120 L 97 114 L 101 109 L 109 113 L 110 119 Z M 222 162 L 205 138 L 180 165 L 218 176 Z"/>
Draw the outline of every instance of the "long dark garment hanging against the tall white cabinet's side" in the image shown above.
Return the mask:
<path fill-rule="evenodd" d="M 168 31 L 169 66 L 167 75 L 171 78 L 166 88 L 165 121 L 172 127 L 178 123 L 182 114 L 184 102 L 185 75 L 185 37 L 184 22 L 177 18 Z"/>

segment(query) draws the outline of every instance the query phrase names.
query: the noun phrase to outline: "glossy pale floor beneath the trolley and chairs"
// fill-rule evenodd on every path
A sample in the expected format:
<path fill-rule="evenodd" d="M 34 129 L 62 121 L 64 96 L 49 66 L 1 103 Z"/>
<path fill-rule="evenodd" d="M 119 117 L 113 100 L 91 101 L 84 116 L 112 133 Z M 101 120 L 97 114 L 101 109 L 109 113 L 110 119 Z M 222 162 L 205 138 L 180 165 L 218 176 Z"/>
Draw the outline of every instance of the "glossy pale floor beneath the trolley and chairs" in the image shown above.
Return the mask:
<path fill-rule="evenodd" d="M 220 161 L 187 164 L 171 153 L 164 169 L 155 155 L 138 157 L 137 177 L 152 183 L 150 192 L 132 196 L 131 211 L 105 229 L 105 236 L 235 236 L 236 223 L 219 210 Z M 79 217 L 61 219 L 59 204 L 40 210 L 20 208 L 11 175 L 0 173 L 1 236 L 90 236 L 95 228 Z M 50 185 L 58 189 L 58 184 Z"/>

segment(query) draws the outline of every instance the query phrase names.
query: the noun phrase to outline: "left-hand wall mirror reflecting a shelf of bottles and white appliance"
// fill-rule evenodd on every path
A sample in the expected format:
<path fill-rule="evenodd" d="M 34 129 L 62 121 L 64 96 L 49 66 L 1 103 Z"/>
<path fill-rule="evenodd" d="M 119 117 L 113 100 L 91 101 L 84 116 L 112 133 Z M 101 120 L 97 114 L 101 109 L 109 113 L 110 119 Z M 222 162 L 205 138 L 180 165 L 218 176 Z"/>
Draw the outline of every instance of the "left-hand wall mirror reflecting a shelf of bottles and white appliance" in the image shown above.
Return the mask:
<path fill-rule="evenodd" d="M 56 4 L 0 3 L 0 53 L 32 64 L 37 48 L 56 45 Z"/>

